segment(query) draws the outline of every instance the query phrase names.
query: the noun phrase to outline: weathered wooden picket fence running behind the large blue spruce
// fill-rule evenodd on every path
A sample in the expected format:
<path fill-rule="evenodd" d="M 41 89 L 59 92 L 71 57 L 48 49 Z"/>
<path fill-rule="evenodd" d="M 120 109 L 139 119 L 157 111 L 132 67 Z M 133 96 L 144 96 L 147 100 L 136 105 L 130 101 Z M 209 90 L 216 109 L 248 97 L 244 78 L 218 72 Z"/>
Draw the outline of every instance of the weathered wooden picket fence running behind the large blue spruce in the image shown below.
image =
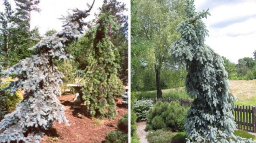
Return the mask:
<path fill-rule="evenodd" d="M 192 99 L 183 98 L 145 98 L 147 100 L 152 100 L 153 104 L 157 103 L 159 100 L 162 102 L 179 101 L 179 104 L 185 108 L 191 106 Z M 143 98 L 142 98 L 143 100 Z M 239 106 L 236 105 L 234 111 L 232 111 L 234 116 L 234 121 L 237 124 L 237 128 L 246 131 L 256 132 L 256 107 L 255 106 Z"/>

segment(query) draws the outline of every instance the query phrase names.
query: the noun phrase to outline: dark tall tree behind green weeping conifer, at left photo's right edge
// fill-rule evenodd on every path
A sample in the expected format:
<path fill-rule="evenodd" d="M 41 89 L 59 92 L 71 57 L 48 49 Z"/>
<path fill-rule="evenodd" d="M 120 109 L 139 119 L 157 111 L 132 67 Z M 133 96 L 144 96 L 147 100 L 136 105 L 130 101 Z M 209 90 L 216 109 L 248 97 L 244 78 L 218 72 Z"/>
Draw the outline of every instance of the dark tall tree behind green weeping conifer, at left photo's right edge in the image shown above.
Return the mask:
<path fill-rule="evenodd" d="M 108 35 L 113 43 L 115 60 L 118 64 L 118 76 L 124 83 L 128 83 L 128 15 L 125 15 L 125 3 L 118 0 L 104 0 L 101 12 L 107 13 L 111 9 L 113 21 L 118 25 L 117 29 L 108 28 Z"/>

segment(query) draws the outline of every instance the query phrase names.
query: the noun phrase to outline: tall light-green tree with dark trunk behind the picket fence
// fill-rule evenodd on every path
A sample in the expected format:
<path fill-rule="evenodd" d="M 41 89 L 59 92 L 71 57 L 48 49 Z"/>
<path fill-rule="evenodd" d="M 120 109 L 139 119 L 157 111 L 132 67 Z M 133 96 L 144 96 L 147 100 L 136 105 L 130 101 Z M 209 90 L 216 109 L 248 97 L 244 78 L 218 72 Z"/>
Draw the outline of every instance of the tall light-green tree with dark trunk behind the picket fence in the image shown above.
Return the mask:
<path fill-rule="evenodd" d="M 150 67 L 155 72 L 157 97 L 161 97 L 160 75 L 163 67 L 177 68 L 171 62 L 168 51 L 171 43 L 179 38 L 175 29 L 184 15 L 183 1 L 135 0 L 132 3 L 131 78 L 132 81 L 138 78 L 139 68 Z"/>

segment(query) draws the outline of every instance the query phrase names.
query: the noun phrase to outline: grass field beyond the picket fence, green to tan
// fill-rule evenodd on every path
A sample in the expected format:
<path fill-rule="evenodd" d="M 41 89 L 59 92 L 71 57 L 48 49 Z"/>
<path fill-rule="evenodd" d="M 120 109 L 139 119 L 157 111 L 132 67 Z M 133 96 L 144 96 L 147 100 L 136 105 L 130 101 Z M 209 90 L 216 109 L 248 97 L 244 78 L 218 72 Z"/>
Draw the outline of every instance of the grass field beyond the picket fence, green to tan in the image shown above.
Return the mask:
<path fill-rule="evenodd" d="M 236 105 L 251 105 L 256 106 L 256 79 L 254 80 L 230 80 L 229 81 L 230 92 L 236 96 L 238 99 L 235 102 Z M 175 88 L 175 89 L 166 89 L 162 90 L 163 94 L 162 97 L 172 97 L 172 98 L 185 98 L 188 99 L 189 96 L 187 95 L 185 88 Z M 156 90 L 153 91 L 146 91 L 146 92 L 136 92 L 136 96 L 138 99 L 143 98 L 155 98 Z"/>

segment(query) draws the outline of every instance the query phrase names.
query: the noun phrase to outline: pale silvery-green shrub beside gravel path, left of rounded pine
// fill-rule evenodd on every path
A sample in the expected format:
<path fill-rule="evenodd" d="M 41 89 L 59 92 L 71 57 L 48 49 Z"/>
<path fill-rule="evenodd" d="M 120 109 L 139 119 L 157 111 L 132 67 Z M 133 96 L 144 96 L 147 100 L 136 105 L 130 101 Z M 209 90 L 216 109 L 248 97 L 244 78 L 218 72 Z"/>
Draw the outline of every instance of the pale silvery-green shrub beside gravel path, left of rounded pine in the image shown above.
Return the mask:
<path fill-rule="evenodd" d="M 133 111 L 137 115 L 137 121 L 145 121 L 149 109 L 153 106 L 152 100 L 136 100 L 133 105 Z"/>

